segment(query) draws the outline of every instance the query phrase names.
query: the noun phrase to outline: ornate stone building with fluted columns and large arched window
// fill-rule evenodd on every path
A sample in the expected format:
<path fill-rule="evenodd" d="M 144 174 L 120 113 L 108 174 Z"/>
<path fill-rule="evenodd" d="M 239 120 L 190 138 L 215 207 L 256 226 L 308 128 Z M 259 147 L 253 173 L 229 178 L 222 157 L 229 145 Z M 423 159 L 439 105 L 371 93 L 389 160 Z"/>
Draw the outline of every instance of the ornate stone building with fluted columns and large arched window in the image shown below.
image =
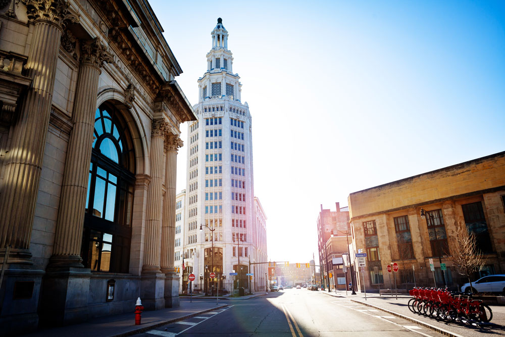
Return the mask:
<path fill-rule="evenodd" d="M 179 127 L 196 116 L 155 14 L 143 0 L 0 7 L 3 333 L 137 297 L 177 306 Z"/>

